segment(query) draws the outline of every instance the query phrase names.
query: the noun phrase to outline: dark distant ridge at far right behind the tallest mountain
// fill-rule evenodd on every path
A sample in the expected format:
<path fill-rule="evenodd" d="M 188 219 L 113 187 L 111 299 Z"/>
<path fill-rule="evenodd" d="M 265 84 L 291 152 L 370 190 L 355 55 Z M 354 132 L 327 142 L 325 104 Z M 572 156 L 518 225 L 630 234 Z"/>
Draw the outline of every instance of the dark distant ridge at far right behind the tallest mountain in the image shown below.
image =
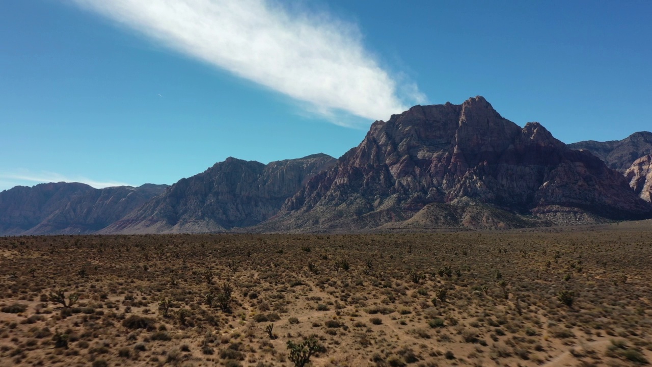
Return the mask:
<path fill-rule="evenodd" d="M 623 140 L 596 142 L 586 140 L 568 145 L 574 150 L 588 150 L 599 157 L 608 167 L 619 172 L 625 172 L 636 159 L 647 154 L 652 154 L 652 133 L 639 131 Z"/>

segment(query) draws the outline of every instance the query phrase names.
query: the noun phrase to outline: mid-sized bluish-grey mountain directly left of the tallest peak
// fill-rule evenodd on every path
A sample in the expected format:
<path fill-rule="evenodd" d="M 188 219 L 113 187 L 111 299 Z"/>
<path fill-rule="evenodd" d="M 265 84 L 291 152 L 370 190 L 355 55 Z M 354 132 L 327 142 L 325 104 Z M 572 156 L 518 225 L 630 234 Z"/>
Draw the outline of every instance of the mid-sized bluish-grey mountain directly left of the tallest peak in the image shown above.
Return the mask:
<path fill-rule="evenodd" d="M 219 232 L 256 225 L 334 163 L 325 154 L 267 165 L 230 157 L 179 180 L 100 233 Z"/>

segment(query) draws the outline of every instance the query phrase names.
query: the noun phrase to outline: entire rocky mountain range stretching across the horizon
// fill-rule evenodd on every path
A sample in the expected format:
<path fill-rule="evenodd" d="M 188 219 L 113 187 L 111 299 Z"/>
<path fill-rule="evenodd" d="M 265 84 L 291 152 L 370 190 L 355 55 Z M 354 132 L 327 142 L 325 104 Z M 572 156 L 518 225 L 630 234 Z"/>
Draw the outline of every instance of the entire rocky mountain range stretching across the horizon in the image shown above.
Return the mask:
<path fill-rule="evenodd" d="M 0 193 L 0 235 L 509 229 L 652 217 L 652 133 L 566 145 L 482 97 L 372 124 L 339 159 L 228 158 L 167 185 Z"/>

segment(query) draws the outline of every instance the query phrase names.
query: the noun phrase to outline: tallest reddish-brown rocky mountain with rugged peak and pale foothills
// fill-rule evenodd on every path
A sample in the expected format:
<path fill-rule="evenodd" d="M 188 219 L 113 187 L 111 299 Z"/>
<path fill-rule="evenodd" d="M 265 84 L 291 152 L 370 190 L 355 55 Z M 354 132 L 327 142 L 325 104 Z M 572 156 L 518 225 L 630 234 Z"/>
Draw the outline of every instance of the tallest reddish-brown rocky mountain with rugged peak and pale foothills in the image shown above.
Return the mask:
<path fill-rule="evenodd" d="M 374 122 L 357 148 L 252 231 L 528 227 L 651 214 L 595 155 L 539 123 L 521 128 L 475 97 Z"/>

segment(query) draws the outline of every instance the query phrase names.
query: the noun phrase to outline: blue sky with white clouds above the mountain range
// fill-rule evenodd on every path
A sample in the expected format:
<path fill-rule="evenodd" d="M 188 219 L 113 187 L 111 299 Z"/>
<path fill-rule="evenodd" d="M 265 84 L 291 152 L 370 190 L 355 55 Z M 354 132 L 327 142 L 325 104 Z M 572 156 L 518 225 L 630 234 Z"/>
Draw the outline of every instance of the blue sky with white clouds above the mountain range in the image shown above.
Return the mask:
<path fill-rule="evenodd" d="M 0 190 L 339 157 L 483 95 L 564 142 L 652 130 L 650 1 L 4 0 Z"/>

